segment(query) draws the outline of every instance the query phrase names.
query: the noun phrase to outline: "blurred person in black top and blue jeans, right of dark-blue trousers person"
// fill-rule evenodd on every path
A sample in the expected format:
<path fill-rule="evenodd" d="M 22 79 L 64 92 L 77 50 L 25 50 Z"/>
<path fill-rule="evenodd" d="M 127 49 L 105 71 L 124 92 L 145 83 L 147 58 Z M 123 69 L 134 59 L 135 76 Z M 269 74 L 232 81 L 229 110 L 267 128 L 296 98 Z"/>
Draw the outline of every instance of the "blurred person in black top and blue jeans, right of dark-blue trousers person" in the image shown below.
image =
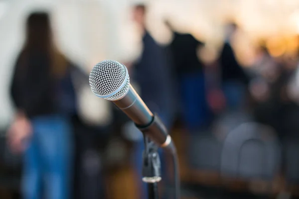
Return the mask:
<path fill-rule="evenodd" d="M 229 110 L 239 110 L 242 107 L 248 83 L 247 76 L 239 65 L 231 45 L 237 28 L 234 23 L 225 27 L 226 40 L 220 55 L 222 90 Z"/>

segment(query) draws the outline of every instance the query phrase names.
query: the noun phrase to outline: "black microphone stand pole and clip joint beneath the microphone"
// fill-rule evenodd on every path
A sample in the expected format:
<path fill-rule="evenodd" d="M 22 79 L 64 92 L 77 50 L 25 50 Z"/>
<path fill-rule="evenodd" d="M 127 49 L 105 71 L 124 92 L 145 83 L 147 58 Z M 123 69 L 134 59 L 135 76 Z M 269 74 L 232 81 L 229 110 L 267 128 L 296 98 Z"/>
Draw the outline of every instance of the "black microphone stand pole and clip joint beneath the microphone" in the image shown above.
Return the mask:
<path fill-rule="evenodd" d="M 148 199 L 158 199 L 158 182 L 161 180 L 161 162 L 158 146 L 145 135 L 145 150 L 143 152 L 143 181 L 148 183 Z"/>

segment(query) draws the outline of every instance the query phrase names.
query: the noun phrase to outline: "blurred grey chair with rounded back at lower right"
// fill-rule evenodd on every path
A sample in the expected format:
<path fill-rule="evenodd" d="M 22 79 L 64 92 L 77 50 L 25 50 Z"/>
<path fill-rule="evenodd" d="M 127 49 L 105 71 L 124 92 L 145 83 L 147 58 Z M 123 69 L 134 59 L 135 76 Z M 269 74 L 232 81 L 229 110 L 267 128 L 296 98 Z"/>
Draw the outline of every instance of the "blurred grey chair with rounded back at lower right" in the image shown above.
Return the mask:
<path fill-rule="evenodd" d="M 275 132 L 258 123 L 243 123 L 224 141 L 221 174 L 233 178 L 272 180 L 280 170 L 281 161 L 281 146 Z"/>

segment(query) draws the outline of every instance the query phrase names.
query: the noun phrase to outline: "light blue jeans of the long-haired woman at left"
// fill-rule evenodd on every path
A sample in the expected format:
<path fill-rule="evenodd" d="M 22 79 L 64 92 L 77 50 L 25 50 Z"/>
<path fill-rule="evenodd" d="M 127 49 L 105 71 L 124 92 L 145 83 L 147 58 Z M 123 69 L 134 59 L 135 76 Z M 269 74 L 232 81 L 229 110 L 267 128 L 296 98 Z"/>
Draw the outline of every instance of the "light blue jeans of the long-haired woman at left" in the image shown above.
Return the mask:
<path fill-rule="evenodd" d="M 58 115 L 31 120 L 33 135 L 24 154 L 24 199 L 70 199 L 72 135 L 68 119 Z"/>

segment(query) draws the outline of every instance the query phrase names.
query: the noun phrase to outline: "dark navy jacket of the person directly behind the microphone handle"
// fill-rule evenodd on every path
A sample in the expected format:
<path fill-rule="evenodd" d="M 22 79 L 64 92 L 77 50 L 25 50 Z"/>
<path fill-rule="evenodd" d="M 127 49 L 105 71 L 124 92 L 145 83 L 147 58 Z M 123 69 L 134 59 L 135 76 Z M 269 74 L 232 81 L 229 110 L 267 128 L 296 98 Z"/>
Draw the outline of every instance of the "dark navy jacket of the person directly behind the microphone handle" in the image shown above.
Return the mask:
<path fill-rule="evenodd" d="M 134 65 L 133 79 L 141 88 L 141 98 L 153 112 L 161 113 L 166 122 L 171 114 L 171 73 L 166 49 L 159 46 L 146 31 L 142 57 Z M 167 122 L 168 123 L 168 122 Z"/>

